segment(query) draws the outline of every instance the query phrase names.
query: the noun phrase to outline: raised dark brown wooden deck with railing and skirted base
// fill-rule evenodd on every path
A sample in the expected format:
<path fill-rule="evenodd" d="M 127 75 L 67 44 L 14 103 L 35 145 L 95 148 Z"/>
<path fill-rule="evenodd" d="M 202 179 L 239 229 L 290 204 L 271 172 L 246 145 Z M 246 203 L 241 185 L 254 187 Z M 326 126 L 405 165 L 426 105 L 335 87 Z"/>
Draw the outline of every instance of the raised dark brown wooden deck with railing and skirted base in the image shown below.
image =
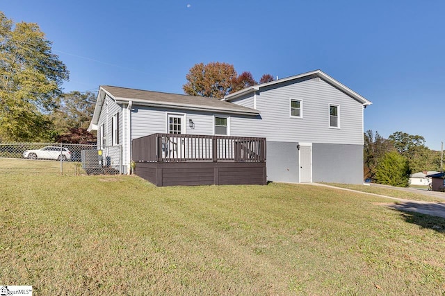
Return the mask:
<path fill-rule="evenodd" d="M 136 175 L 156 186 L 266 184 L 266 139 L 151 134 L 132 141 Z"/>

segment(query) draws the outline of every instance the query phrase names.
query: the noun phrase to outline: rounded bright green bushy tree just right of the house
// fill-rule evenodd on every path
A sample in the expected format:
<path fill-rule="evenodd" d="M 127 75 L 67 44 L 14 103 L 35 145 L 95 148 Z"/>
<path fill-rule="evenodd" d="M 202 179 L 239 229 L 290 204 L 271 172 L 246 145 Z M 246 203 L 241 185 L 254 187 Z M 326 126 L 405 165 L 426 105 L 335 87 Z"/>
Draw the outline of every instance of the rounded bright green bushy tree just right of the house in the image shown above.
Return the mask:
<path fill-rule="evenodd" d="M 375 179 L 380 184 L 407 187 L 410 182 L 408 160 L 396 151 L 386 153 L 379 162 Z"/>

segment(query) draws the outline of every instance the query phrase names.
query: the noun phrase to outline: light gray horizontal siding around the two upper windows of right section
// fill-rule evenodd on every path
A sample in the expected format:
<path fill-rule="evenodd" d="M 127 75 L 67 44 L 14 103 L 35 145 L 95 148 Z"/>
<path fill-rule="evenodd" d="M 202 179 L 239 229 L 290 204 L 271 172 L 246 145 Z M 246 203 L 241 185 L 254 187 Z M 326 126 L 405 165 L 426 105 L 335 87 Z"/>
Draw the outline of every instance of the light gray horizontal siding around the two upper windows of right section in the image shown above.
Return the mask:
<path fill-rule="evenodd" d="M 268 141 L 363 144 L 363 105 L 323 79 L 300 80 L 260 89 L 255 119 L 232 117 L 232 136 Z M 304 98 L 304 121 L 289 118 L 289 98 Z M 341 129 L 329 128 L 329 104 L 341 105 Z"/>

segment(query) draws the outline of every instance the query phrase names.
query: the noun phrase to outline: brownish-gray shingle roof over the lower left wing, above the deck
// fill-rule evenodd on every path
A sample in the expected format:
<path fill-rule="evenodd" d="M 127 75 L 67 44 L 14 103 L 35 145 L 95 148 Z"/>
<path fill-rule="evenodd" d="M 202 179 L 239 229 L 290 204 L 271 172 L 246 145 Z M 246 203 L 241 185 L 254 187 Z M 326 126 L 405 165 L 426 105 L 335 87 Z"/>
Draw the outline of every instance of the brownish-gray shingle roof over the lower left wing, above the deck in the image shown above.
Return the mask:
<path fill-rule="evenodd" d="M 141 89 L 113 87 L 110 85 L 102 85 L 101 88 L 111 94 L 116 101 L 133 101 L 133 105 L 143 104 L 152 105 L 154 107 L 172 107 L 175 109 L 194 109 L 247 115 L 259 114 L 258 110 L 220 101 L 216 98 L 187 96 L 185 94 L 168 94 Z"/>

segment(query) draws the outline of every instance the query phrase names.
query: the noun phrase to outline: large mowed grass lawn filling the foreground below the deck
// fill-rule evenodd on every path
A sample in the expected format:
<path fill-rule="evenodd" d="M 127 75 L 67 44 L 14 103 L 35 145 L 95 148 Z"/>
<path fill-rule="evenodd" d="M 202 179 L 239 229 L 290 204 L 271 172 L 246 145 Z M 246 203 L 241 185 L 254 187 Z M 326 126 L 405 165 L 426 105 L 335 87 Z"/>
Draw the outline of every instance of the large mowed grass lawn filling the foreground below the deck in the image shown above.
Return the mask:
<path fill-rule="evenodd" d="M 35 295 L 445 293 L 445 219 L 384 198 L 23 170 L 0 200 L 0 284 Z"/>

